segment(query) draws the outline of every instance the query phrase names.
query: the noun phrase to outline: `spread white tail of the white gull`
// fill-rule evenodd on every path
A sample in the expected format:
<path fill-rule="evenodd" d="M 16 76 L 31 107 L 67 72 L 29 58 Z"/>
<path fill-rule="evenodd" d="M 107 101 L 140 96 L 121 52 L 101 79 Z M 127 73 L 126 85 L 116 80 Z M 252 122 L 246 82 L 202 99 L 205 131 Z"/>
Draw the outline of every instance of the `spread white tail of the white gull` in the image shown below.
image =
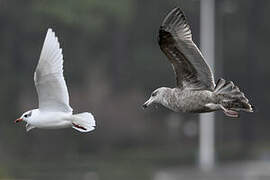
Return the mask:
<path fill-rule="evenodd" d="M 84 112 L 72 115 L 72 128 L 80 132 L 90 132 L 95 129 L 96 121 L 91 113 Z"/>

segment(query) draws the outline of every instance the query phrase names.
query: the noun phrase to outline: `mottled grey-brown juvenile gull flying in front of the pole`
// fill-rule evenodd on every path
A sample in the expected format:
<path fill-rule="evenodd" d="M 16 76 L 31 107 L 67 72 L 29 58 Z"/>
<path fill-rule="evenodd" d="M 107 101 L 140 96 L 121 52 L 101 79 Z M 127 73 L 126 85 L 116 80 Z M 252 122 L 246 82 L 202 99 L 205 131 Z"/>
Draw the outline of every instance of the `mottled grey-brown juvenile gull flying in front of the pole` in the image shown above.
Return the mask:
<path fill-rule="evenodd" d="M 239 117 L 241 110 L 253 112 L 248 99 L 232 81 L 219 79 L 215 84 L 180 8 L 173 9 L 163 20 L 158 43 L 172 64 L 177 86 L 156 89 L 143 104 L 144 108 L 159 103 L 176 112 L 222 110 L 229 117 Z"/>

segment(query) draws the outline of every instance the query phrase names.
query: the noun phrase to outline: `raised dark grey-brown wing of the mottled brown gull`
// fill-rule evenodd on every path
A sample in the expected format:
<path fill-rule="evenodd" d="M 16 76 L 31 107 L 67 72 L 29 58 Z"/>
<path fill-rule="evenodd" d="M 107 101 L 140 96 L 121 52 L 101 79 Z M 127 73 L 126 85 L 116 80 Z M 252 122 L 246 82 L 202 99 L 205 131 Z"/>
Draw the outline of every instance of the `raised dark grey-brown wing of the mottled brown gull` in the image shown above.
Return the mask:
<path fill-rule="evenodd" d="M 173 65 L 180 88 L 213 90 L 213 74 L 192 41 L 190 26 L 180 8 L 173 9 L 159 29 L 159 45 Z"/>

